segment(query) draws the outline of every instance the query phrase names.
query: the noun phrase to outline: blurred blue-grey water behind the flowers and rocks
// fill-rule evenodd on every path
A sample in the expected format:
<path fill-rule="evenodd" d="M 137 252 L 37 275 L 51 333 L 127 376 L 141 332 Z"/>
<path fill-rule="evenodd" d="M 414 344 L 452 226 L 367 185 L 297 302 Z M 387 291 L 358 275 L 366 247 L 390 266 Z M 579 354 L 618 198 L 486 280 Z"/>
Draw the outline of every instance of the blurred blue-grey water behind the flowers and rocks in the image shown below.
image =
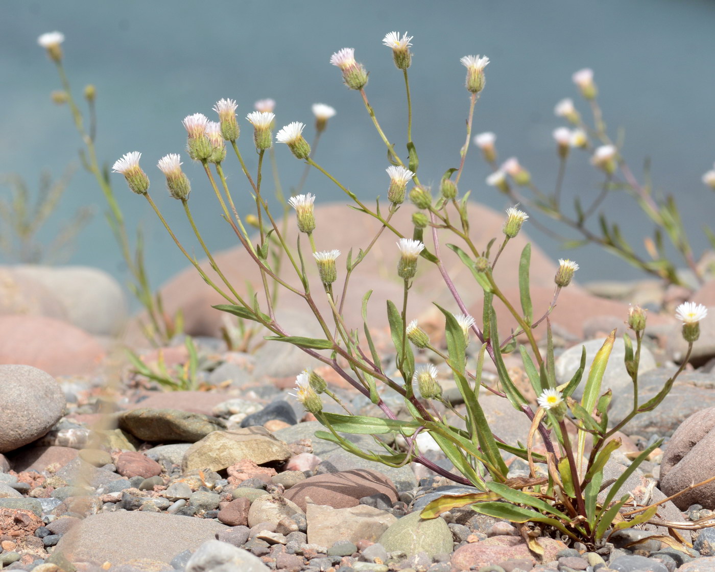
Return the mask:
<path fill-rule="evenodd" d="M 355 47 L 358 61 L 370 71 L 370 102 L 401 151 L 403 78 L 381 43 L 386 32 L 398 30 L 415 36 L 409 73 L 423 182 L 438 185 L 446 169 L 458 166 L 468 109 L 461 56 L 485 54 L 491 60 L 473 132 L 496 132 L 500 159 L 517 156 L 544 189 L 553 189 L 556 178 L 551 132 L 563 124 L 553 115 L 554 104 L 573 97 L 588 113 L 571 83 L 572 72 L 588 66 L 595 71 L 612 136 L 616 127 L 626 129 L 623 153 L 631 167 L 640 175 L 644 159 L 652 160 L 654 186 L 676 195 L 694 231 L 696 252 L 706 246 L 699 227 L 711 223 L 715 212 L 715 197 L 701 182 L 715 159 L 713 1 L 56 0 L 4 2 L 0 11 L 0 173 L 17 172 L 31 188 L 41 169 L 59 176 L 66 164 L 77 163 L 81 147 L 69 110 L 50 102 L 59 81 L 36 45 L 39 34 L 59 30 L 66 35 L 62 47 L 75 94 L 81 99 L 85 84 L 97 87 L 99 157 L 111 165 L 125 152 L 141 151 L 154 198 L 177 229 L 188 231 L 180 205 L 164 192 L 163 177 L 154 167 L 164 154 L 182 152 L 193 181 L 194 216 L 212 248 L 236 241 L 220 220 L 200 166 L 185 156 L 181 120 L 195 112 L 214 119 L 212 105 L 222 97 L 239 102 L 240 144 L 252 169 L 252 129 L 243 117 L 256 99 L 277 101 L 278 127 L 307 123 L 309 140 L 310 105 L 332 105 L 337 116 L 330 120 L 317 161 L 360 197 L 384 197 L 388 162 L 383 143 L 359 95 L 342 85 L 340 71 L 328 60 L 333 51 Z M 285 145 L 278 147 L 277 157 L 290 190 L 302 164 Z M 574 192 L 595 196 L 601 177 L 586 156 L 574 157 L 566 197 Z M 234 192 L 246 212 L 252 201 L 236 162 L 227 162 L 226 170 L 240 184 Z M 472 189 L 473 199 L 495 209 L 510 206 L 485 185 L 488 173 L 472 147 L 460 192 Z M 121 176 L 114 175 L 113 182 L 129 226 L 144 229 L 149 276 L 158 286 L 187 262 L 144 199 L 130 193 Z M 270 179 L 267 184 L 272 189 Z M 318 202 L 345 200 L 317 172 L 310 174 L 305 191 L 317 194 Z M 100 267 L 123 280 L 122 258 L 102 215 L 104 199 L 82 169 L 41 238 L 51 237 L 87 204 L 97 205 L 97 215 L 79 235 L 69 262 Z M 642 251 L 651 225 L 633 202 L 612 195 L 603 210 L 621 222 Z M 541 232 L 528 232 L 553 257 L 577 260 L 581 281 L 643 276 L 596 247 L 565 251 Z M 184 236 L 188 240 L 189 232 Z"/>

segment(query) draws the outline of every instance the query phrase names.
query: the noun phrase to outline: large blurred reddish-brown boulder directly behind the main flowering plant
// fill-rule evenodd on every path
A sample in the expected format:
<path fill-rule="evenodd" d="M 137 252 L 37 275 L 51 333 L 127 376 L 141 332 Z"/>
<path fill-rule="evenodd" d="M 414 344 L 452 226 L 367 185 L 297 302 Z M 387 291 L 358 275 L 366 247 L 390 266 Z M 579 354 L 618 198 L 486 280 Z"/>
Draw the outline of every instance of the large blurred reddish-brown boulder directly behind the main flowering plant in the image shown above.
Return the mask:
<path fill-rule="evenodd" d="M 413 233 L 412 212 L 413 209 L 410 208 L 400 209 L 391 220 L 393 227 L 406 236 L 412 236 Z M 505 217 L 503 213 L 495 212 L 481 204 L 470 203 L 470 216 L 474 220 L 479 220 L 479 225 L 473 225 L 471 232 L 478 247 L 483 248 L 491 238 L 502 235 Z M 315 238 L 318 244 L 321 241 L 329 240 L 331 248 L 337 248 L 343 253 L 347 253 L 351 247 L 355 249 L 355 252 L 358 248 L 365 247 L 370 239 L 378 233 L 381 226 L 372 217 L 356 213 L 345 204 L 317 205 L 315 218 L 317 220 Z M 280 222 L 278 224 L 280 225 Z M 340 232 L 333 232 L 336 228 L 339 228 Z M 286 237 L 287 243 L 295 245 L 296 235 L 295 217 L 291 214 Z M 443 241 L 451 242 L 451 235 L 443 232 L 440 232 L 440 235 Z M 350 292 L 352 292 L 352 296 L 355 296 L 355 300 L 360 300 L 365 291 L 373 290 L 373 295 L 368 303 L 368 314 L 370 323 L 374 327 L 387 325 L 385 300 L 401 300 L 402 298 L 403 285 L 395 271 L 399 257 L 395 240 L 396 237 L 392 232 L 383 232 L 370 255 L 356 268 L 350 278 Z M 501 255 L 501 260 L 495 270 L 495 279 L 498 284 L 517 282 L 518 260 L 526 242 L 528 242 L 528 237 L 523 232 L 511 240 L 509 247 Z M 444 246 L 444 242 L 442 255 L 445 267 L 463 295 L 465 303 L 471 304 L 473 293 L 480 290 L 474 287 L 473 277 L 457 255 Z M 260 272 L 242 247 L 238 246 L 220 252 L 215 255 L 215 260 L 240 294 L 245 294 L 246 282 L 250 282 L 255 290 L 260 290 Z M 202 261 L 201 265 L 207 269 L 207 272 L 212 272 L 207 261 Z M 310 280 L 313 282 L 312 291 L 321 292 L 322 288 L 317 282 L 315 265 L 307 264 L 306 266 Z M 548 286 L 553 284 L 556 264 L 534 245 L 532 245 L 531 267 L 531 283 L 533 285 Z M 285 267 L 282 277 L 289 284 L 300 287 L 290 265 Z M 340 280 L 342 277 L 339 278 L 340 287 L 342 287 Z M 225 303 L 225 300 L 204 283 L 193 267 L 187 268 L 169 280 L 161 293 L 164 308 L 169 315 L 173 315 L 179 308 L 182 309 L 187 333 L 191 335 L 220 335 L 221 312 L 213 312 L 210 307 Z M 413 290 L 410 291 L 410 314 L 418 315 L 428 307 L 433 299 L 445 303 L 451 302 L 449 292 L 437 267 L 420 260 L 418 277 Z M 290 306 L 295 307 L 294 300 L 295 297 L 289 296 L 280 299 L 277 307 L 279 322 L 282 310 Z M 316 296 L 315 301 L 323 315 L 330 315 L 330 308 L 327 307 L 324 297 Z M 362 327 L 360 304 L 347 305 L 345 319 L 350 328 Z"/>

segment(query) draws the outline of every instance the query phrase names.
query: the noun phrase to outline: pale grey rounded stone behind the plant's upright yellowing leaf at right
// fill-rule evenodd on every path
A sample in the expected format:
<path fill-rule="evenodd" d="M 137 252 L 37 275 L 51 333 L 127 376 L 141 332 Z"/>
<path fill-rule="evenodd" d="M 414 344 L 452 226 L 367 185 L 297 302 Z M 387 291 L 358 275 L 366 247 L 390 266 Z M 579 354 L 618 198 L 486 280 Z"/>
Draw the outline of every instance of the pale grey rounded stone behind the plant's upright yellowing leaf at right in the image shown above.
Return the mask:
<path fill-rule="evenodd" d="M 581 347 L 586 347 L 586 370 L 583 373 L 583 378 L 581 383 L 578 385 L 576 390 L 573 392 L 574 399 L 581 399 L 583 396 L 583 388 L 585 387 L 585 382 L 588 379 L 588 370 L 591 367 L 593 358 L 596 357 L 596 352 L 601 349 L 603 345 L 603 340 L 587 340 L 583 344 L 577 344 L 573 347 L 569 347 L 568 350 L 563 352 L 556 359 L 556 383 L 566 383 L 571 380 L 573 374 L 578 370 L 578 366 L 581 364 Z M 625 396 L 630 397 L 630 393 L 633 382 L 631 376 L 626 372 L 626 365 L 623 364 L 623 358 L 626 355 L 626 346 L 623 343 L 622 337 L 617 337 L 616 342 L 613 344 L 613 350 L 611 350 L 611 357 L 608 359 L 608 365 L 606 366 L 606 372 L 603 374 L 603 381 L 601 382 L 601 393 L 606 391 L 608 388 L 613 390 L 613 401 L 616 398 Z M 641 347 L 641 363 L 638 368 L 638 375 L 642 375 L 650 370 L 656 368 L 656 360 L 653 354 L 647 347 Z"/>

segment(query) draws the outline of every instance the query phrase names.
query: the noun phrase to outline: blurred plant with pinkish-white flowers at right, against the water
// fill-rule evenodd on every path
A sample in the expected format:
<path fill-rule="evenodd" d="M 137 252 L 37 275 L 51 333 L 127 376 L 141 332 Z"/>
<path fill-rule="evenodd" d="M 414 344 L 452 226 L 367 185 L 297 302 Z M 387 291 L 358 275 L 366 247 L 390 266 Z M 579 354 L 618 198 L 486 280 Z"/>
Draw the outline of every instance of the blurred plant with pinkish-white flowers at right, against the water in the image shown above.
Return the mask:
<path fill-rule="evenodd" d="M 696 284 L 702 284 L 706 277 L 713 274 L 713 268 L 704 263 L 702 256 L 696 257 L 694 254 L 688 238 L 688 229 L 684 225 L 673 194 L 656 192 L 650 176 L 649 162 L 645 164 L 642 182 L 633 174 L 622 154 L 623 131 L 619 133 L 618 139 L 613 139 L 606 129 L 603 111 L 598 104 L 598 89 L 593 81 L 593 71 L 588 68 L 581 69 L 573 74 L 572 79 L 591 109 L 591 122 L 576 109 L 572 99 L 562 99 L 556 104 L 554 113 L 557 117 L 566 119 L 572 129 L 558 127 L 553 131 L 558 156 L 558 174 L 553 192 L 537 187 L 531 174 L 519 164 L 516 157 L 511 157 L 499 165 L 495 149 L 496 136 L 492 132 L 480 133 L 474 138 L 475 144 L 482 149 L 484 159 L 493 169 L 493 173 L 487 178 L 488 184 L 497 187 L 514 201 L 530 207 L 532 211 L 541 212 L 580 235 L 573 240 L 556 232 L 552 225 L 537 225 L 552 238 L 560 241 L 565 248 L 595 244 L 626 260 L 628 264 L 662 278 L 666 284 L 694 287 L 693 279 Z M 566 167 L 572 157 L 571 149 L 586 154 L 591 164 L 603 173 L 603 181 L 601 190 L 595 197 L 583 199 L 576 195 L 573 198 L 573 214 L 568 214 L 563 208 L 562 195 Z M 715 189 L 715 170 L 706 172 L 702 179 L 704 184 Z M 623 200 L 625 196 L 633 199 L 653 223 L 653 236 L 644 237 L 644 252 L 638 252 L 628 242 L 617 223 L 609 222 L 605 214 L 598 212 L 601 204 L 613 193 L 618 194 L 618 200 Z M 598 225 L 594 230 L 589 227 L 589 222 L 596 215 Z M 703 232 L 711 248 L 715 249 L 715 234 L 709 227 L 704 227 Z M 680 264 L 692 272 L 692 279 L 686 279 L 683 273 L 679 272 L 676 261 L 671 260 L 671 251 L 681 257 Z"/>

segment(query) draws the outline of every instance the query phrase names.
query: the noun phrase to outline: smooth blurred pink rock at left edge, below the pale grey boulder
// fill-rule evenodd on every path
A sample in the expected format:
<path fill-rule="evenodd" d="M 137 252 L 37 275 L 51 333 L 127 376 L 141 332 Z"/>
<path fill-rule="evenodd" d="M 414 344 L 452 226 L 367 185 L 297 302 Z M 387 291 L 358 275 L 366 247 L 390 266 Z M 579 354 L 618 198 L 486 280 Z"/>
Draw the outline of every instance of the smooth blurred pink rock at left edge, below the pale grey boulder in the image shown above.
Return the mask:
<path fill-rule="evenodd" d="M 84 375 L 104 360 L 94 337 L 44 316 L 0 316 L 0 364 L 21 363 L 49 375 Z"/>

